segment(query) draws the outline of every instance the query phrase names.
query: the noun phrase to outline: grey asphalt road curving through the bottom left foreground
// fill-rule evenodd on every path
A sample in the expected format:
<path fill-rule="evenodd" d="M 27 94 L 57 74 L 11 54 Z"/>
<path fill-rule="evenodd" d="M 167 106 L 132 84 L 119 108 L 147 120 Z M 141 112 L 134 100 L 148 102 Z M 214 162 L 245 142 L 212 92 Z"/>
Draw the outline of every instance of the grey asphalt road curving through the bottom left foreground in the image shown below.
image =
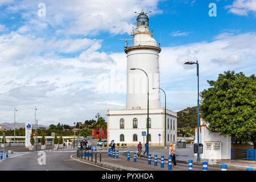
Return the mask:
<path fill-rule="evenodd" d="M 0 171 L 105 171 L 107 168 L 97 167 L 71 158 L 75 152 L 46 152 L 46 165 L 38 163 L 38 154 L 20 152 L 10 155 L 9 159 L 0 161 Z"/>

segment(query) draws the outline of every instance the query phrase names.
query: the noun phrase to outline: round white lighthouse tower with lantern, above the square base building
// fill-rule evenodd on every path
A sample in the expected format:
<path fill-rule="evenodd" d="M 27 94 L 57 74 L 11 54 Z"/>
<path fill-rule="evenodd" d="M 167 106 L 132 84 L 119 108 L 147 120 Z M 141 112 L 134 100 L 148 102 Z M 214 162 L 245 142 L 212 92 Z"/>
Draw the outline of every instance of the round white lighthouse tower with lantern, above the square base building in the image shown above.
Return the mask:
<path fill-rule="evenodd" d="M 160 108 L 159 90 L 159 53 L 160 45 L 152 38 L 153 34 L 148 27 L 148 16 L 142 11 L 137 17 L 137 27 L 132 33 L 134 45 L 127 47 L 127 94 L 126 109 L 147 109 L 147 77 L 139 68 L 147 73 L 149 80 L 151 109 Z"/>

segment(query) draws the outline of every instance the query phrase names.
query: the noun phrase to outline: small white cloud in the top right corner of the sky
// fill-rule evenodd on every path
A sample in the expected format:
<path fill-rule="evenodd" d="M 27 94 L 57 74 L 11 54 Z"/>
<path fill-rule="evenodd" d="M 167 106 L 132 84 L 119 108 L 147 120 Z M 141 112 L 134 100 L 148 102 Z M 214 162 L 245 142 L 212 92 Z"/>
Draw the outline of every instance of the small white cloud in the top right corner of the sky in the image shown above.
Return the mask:
<path fill-rule="evenodd" d="M 247 14 L 252 11 L 256 13 L 256 1 L 255 0 L 236 0 L 232 5 L 226 6 L 229 9 L 229 13 L 247 16 Z"/>

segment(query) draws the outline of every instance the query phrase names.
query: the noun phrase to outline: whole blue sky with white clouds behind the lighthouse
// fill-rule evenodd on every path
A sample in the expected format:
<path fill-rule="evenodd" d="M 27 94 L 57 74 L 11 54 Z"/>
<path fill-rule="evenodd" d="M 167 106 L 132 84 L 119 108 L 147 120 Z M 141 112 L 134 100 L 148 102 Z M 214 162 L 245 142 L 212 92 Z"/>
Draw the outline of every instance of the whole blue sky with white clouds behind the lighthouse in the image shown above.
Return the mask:
<path fill-rule="evenodd" d="M 45 17 L 38 15 L 39 3 L 46 5 Z M 217 16 L 208 15 L 210 3 Z M 152 10 L 150 28 L 161 43 L 167 109 L 196 105 L 196 67 L 185 60 L 199 60 L 200 91 L 224 71 L 255 73 L 255 0 L 2 0 L 0 122 L 13 122 L 14 107 L 17 122 L 34 121 L 38 107 L 43 125 L 125 109 L 125 43 L 119 39 L 131 38 L 134 11 L 142 9 Z"/>

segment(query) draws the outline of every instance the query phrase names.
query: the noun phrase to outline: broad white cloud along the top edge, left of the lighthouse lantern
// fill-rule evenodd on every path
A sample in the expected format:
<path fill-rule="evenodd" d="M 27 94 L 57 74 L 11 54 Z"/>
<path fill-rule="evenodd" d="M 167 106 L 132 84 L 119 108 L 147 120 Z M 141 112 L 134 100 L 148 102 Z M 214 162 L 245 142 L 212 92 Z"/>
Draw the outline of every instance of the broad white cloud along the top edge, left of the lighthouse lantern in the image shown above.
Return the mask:
<path fill-rule="evenodd" d="M 39 17 L 38 2 L 23 0 L 10 5 L 7 13 L 22 11 L 22 18 L 26 20 L 31 31 L 44 34 L 49 28 L 57 28 L 60 35 L 97 35 L 100 31 L 110 34 L 130 33 L 136 14 L 134 11 L 152 10 L 152 14 L 161 13 L 157 9 L 159 0 L 46 0 L 46 17 Z"/>

